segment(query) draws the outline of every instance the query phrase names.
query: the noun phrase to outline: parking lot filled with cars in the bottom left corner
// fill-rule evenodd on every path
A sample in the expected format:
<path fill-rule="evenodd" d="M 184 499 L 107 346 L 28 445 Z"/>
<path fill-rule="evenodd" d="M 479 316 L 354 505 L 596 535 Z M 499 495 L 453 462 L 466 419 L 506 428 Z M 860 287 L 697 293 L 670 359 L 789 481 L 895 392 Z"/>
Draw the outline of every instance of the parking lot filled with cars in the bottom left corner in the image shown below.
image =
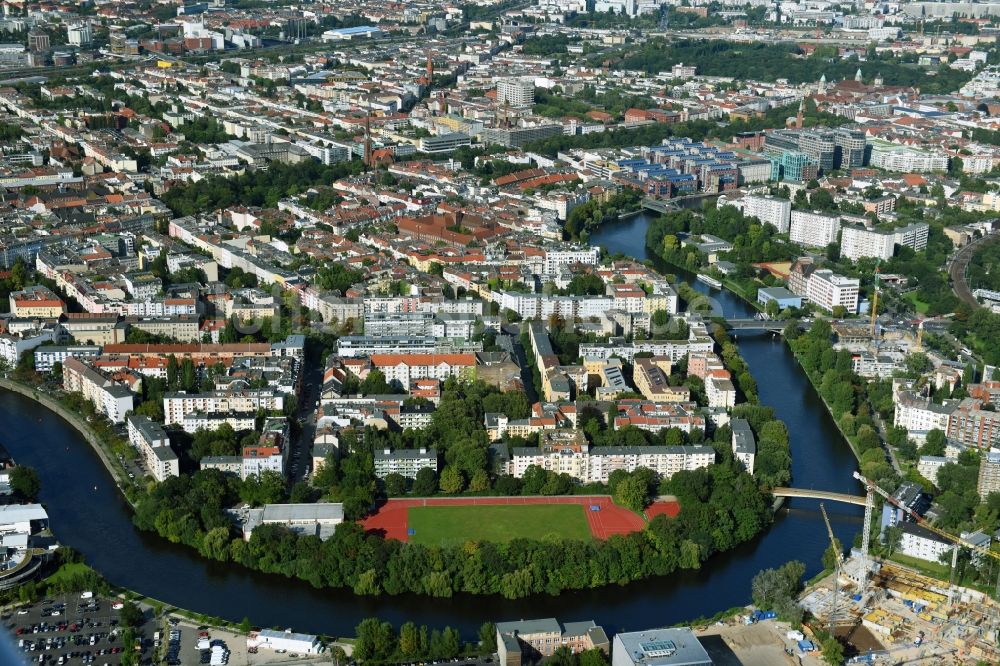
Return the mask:
<path fill-rule="evenodd" d="M 5 611 L 2 620 L 29 663 L 113 666 L 121 663 L 125 647 L 113 603 L 67 594 Z M 149 663 L 148 636 L 133 633 L 143 638 L 143 663 Z"/>

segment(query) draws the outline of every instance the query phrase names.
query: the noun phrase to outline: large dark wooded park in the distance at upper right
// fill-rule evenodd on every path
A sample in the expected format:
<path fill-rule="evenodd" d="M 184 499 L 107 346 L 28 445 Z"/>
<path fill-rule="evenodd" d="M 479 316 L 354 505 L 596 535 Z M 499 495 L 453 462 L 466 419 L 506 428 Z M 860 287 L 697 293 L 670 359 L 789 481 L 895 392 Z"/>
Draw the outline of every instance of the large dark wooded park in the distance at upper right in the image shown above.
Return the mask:
<path fill-rule="evenodd" d="M 880 56 L 874 51 L 866 55 L 865 62 L 860 62 L 856 57 L 837 57 L 833 47 L 821 47 L 813 55 L 802 57 L 795 44 L 744 44 L 716 40 L 668 42 L 651 39 L 641 48 L 628 52 L 618 66 L 656 74 L 681 62 L 696 66 L 701 76 L 754 81 L 783 78 L 793 84 L 819 81 L 824 74 L 831 82 L 853 79 L 858 68 L 862 67 L 868 77 L 880 75 L 886 85 L 915 86 L 921 92 L 930 94 L 952 92 L 972 78 L 970 73 L 951 69 L 947 65 L 929 72 L 923 67 L 904 63 L 898 58 Z"/>

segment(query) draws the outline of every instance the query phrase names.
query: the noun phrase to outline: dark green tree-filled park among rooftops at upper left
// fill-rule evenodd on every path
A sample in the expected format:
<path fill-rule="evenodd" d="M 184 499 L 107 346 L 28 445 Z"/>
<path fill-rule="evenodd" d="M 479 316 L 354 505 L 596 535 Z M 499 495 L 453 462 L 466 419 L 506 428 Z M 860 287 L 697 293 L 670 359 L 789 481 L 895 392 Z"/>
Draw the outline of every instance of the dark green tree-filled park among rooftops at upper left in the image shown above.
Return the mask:
<path fill-rule="evenodd" d="M 329 185 L 345 176 L 361 173 L 359 161 L 323 165 L 315 160 L 300 164 L 268 166 L 267 171 L 250 171 L 242 176 L 213 176 L 197 183 L 177 185 L 160 197 L 175 215 L 225 208 L 236 203 L 246 206 L 274 208 L 284 197 L 305 192 L 310 187 Z"/>

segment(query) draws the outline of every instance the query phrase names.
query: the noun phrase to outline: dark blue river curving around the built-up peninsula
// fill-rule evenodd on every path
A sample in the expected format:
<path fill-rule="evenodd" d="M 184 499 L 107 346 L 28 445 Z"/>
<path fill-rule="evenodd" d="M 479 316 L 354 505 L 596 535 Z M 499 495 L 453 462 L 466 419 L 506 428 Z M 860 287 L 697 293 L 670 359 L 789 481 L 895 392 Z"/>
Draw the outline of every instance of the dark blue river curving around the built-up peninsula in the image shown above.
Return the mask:
<path fill-rule="evenodd" d="M 595 233 L 595 244 L 645 258 L 647 218 L 637 216 Z M 696 289 L 708 287 L 691 281 Z M 751 308 L 728 292 L 712 296 L 726 314 L 748 316 Z M 787 347 L 767 335 L 744 335 L 740 351 L 757 380 L 761 401 L 775 408 L 788 425 L 795 486 L 858 492 L 851 478 L 855 460 Z M 200 613 L 260 626 L 352 635 L 365 617 L 399 625 L 407 620 L 430 626 L 451 625 L 473 638 L 486 620 L 556 617 L 593 619 L 610 632 L 683 622 L 743 605 L 750 579 L 760 569 L 789 559 L 819 571 L 828 544 L 818 504 L 792 500 L 770 529 L 728 553 L 716 555 L 694 572 L 641 581 L 624 587 L 536 596 L 517 601 L 459 595 L 451 599 L 416 596 L 368 598 L 347 590 L 317 590 L 306 583 L 266 575 L 236 565 L 220 565 L 193 550 L 171 544 L 131 523 L 128 505 L 107 470 L 82 437 L 35 402 L 0 391 L 0 443 L 22 464 L 35 467 L 41 501 L 59 540 L 115 585 Z M 861 525 L 861 510 L 827 506 L 841 542 L 851 543 Z"/>

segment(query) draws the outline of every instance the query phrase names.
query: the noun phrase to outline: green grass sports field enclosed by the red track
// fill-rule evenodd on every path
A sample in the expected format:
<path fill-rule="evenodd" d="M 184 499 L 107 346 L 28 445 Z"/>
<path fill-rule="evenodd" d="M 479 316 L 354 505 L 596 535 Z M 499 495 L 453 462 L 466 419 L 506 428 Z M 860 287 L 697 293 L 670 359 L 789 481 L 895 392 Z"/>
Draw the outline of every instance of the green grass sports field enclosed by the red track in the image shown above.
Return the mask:
<path fill-rule="evenodd" d="M 410 541 L 427 546 L 517 538 L 592 538 L 580 504 L 411 507 L 409 527 L 414 530 Z"/>

